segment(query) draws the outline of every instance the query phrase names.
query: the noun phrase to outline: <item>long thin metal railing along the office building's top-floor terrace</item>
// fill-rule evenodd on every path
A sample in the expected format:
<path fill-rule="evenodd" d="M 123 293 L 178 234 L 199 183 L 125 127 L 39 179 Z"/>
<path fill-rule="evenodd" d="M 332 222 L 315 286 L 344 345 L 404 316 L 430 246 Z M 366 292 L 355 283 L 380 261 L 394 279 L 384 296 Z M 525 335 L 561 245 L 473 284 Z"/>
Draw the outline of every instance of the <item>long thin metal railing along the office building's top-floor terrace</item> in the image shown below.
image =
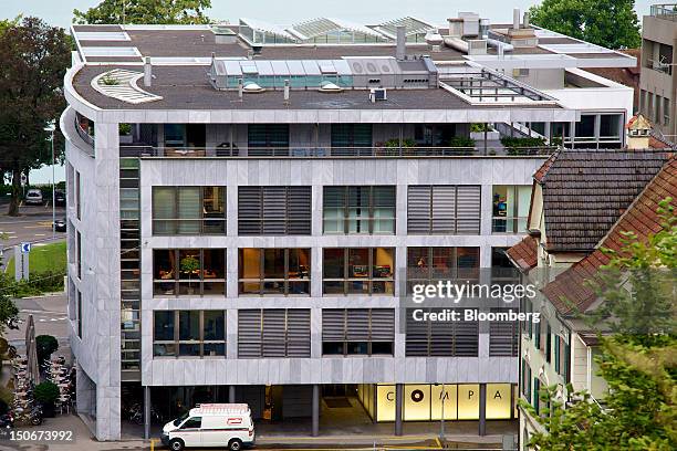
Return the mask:
<path fill-rule="evenodd" d="M 388 158 L 460 156 L 549 156 L 558 148 L 541 147 L 156 147 L 121 145 L 121 157 L 138 158 Z"/>

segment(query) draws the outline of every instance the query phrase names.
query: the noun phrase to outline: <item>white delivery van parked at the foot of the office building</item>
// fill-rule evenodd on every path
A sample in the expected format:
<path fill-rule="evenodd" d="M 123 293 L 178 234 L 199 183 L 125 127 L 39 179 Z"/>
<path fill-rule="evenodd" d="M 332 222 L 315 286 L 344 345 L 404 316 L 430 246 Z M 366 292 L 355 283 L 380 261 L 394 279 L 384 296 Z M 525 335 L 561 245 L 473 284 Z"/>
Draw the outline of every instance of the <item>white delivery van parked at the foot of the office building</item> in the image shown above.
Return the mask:
<path fill-rule="evenodd" d="M 163 444 L 184 448 L 227 447 L 239 451 L 254 444 L 253 421 L 246 403 L 204 403 L 163 428 Z"/>

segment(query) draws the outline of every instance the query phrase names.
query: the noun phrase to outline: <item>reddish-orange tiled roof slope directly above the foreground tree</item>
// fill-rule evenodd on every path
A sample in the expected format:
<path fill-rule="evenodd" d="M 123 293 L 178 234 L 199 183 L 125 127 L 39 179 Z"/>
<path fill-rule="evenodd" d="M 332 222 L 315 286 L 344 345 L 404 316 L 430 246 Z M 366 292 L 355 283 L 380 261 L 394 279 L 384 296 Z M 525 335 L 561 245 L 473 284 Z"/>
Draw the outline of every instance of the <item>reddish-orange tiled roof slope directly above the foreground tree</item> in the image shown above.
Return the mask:
<path fill-rule="evenodd" d="M 585 311 L 594 303 L 595 293 L 586 281 L 594 280 L 600 266 L 610 262 L 608 255 L 600 249 L 619 250 L 623 232 L 634 232 L 638 240 L 646 241 L 648 235 L 660 231 L 660 218 L 656 210 L 658 202 L 668 197 L 673 198 L 671 204 L 677 208 L 677 158 L 671 158 L 665 164 L 594 252 L 543 287 L 543 294 L 558 311 L 571 312 L 570 303 L 580 311 Z"/>

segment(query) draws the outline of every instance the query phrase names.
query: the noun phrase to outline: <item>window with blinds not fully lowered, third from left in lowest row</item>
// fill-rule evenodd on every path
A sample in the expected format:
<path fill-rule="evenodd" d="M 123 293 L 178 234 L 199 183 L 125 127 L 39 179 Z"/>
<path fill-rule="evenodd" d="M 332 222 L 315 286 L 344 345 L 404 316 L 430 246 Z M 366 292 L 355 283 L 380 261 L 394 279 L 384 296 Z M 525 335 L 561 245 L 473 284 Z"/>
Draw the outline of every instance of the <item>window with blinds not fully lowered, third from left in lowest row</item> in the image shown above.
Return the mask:
<path fill-rule="evenodd" d="M 393 308 L 322 310 L 323 356 L 393 355 Z"/>

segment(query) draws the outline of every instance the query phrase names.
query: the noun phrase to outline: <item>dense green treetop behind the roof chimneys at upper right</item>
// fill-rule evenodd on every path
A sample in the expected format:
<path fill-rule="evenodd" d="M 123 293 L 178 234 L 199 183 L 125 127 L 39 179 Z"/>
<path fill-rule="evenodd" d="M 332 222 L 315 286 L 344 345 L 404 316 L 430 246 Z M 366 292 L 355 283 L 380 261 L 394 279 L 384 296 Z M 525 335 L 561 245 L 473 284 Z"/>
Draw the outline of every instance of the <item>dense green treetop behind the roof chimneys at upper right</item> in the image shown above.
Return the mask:
<path fill-rule="evenodd" d="M 539 27 L 608 49 L 642 44 L 635 0 L 543 0 L 529 13 Z"/>

